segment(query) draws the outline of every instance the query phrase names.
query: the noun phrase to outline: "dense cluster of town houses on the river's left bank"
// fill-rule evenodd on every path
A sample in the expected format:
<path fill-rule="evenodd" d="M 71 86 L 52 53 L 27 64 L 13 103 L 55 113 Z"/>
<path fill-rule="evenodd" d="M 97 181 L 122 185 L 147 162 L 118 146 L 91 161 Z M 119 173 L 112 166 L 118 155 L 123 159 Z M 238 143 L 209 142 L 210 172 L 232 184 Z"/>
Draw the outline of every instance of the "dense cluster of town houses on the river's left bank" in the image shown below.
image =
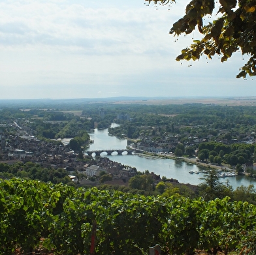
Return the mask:
<path fill-rule="evenodd" d="M 30 136 L 17 128 L 15 135 L 3 133 L 0 130 L 0 160 L 1 162 L 34 162 L 45 168 L 64 168 L 69 172 L 72 181 L 78 181 L 80 185 L 96 185 L 99 177 L 103 174 L 112 176 L 112 181 L 107 181 L 112 185 L 128 185 L 131 177 L 136 175 L 136 169 L 123 166 L 118 162 L 113 162 L 109 158 L 89 157 L 83 155 L 84 160 L 79 159 L 79 154 L 74 153 L 69 148 L 69 143 L 59 144 L 44 142 L 35 136 Z M 160 179 L 159 175 L 152 173 L 154 179 Z M 95 181 L 91 181 L 95 180 Z"/>

